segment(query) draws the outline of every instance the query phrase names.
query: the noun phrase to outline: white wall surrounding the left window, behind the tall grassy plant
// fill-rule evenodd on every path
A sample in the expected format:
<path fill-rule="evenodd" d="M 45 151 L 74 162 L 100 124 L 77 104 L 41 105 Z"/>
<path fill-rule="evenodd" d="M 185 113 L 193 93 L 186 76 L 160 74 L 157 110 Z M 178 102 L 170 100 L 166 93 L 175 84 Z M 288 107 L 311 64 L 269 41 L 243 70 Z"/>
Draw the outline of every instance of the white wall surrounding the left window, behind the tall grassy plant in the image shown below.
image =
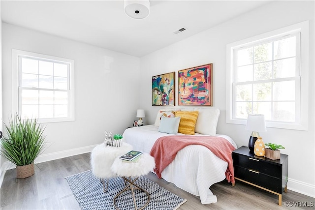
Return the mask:
<path fill-rule="evenodd" d="M 140 59 L 53 35 L 2 24 L 3 120 L 12 112 L 12 49 L 74 60 L 75 121 L 47 123 L 42 162 L 88 152 L 104 131 L 123 133 L 136 120 Z"/>

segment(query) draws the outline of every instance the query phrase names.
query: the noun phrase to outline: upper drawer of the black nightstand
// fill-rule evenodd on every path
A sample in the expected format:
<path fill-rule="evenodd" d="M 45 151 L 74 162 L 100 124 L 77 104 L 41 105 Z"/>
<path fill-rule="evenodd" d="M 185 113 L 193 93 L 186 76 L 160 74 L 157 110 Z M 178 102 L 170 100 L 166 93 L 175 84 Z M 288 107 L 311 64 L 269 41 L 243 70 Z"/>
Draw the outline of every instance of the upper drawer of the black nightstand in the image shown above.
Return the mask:
<path fill-rule="evenodd" d="M 252 169 L 271 177 L 282 179 L 281 165 L 272 164 L 262 159 L 239 155 L 235 153 L 232 153 L 232 157 L 234 166 L 242 166 L 243 168 Z"/>

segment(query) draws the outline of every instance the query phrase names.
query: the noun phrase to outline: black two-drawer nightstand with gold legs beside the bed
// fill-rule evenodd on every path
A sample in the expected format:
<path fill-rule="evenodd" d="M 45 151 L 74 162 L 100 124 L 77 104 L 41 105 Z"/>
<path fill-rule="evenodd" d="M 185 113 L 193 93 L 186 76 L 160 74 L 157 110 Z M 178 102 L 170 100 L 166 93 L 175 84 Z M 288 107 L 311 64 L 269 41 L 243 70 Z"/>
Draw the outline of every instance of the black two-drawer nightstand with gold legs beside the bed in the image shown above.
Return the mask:
<path fill-rule="evenodd" d="M 287 191 L 288 155 L 281 154 L 279 160 L 272 160 L 258 157 L 243 146 L 232 152 L 232 158 L 235 180 L 278 195 L 279 206 L 282 206 L 282 193 Z"/>

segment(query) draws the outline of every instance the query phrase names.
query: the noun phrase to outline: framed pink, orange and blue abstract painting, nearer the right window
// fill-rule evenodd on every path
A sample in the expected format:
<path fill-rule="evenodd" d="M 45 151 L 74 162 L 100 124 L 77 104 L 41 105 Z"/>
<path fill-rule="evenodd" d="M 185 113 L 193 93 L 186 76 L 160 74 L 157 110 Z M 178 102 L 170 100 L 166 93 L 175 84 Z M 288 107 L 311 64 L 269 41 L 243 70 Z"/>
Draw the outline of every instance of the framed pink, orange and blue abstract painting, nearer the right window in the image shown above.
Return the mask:
<path fill-rule="evenodd" d="M 212 63 L 178 71 L 178 105 L 212 106 Z"/>

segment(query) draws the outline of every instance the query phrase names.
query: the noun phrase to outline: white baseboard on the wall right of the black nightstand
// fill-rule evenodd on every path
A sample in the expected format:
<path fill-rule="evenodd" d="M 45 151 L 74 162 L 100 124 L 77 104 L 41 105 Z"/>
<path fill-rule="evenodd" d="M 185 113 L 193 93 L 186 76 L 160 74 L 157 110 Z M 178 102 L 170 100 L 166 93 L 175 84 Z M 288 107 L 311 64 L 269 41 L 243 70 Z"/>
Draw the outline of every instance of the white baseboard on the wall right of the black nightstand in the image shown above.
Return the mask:
<path fill-rule="evenodd" d="M 303 181 L 288 179 L 287 188 L 289 190 L 315 198 L 315 185 Z"/>

